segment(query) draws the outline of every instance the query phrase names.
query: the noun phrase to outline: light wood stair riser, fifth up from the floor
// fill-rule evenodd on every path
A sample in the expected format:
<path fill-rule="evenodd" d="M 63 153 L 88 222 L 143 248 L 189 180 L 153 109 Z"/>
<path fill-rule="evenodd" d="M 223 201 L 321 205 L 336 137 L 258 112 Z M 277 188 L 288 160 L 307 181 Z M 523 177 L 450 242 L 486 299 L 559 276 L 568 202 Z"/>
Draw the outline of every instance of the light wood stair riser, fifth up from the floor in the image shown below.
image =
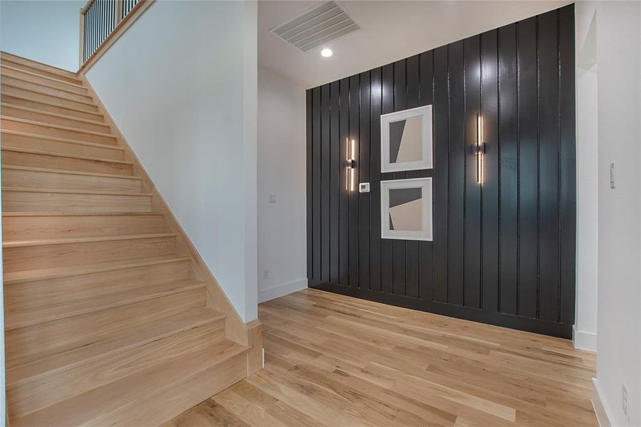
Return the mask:
<path fill-rule="evenodd" d="M 157 237 L 4 248 L 4 271 L 11 273 L 38 268 L 82 265 L 94 263 L 95 260 L 109 262 L 171 255 L 176 251 L 174 240 L 174 237 Z"/>

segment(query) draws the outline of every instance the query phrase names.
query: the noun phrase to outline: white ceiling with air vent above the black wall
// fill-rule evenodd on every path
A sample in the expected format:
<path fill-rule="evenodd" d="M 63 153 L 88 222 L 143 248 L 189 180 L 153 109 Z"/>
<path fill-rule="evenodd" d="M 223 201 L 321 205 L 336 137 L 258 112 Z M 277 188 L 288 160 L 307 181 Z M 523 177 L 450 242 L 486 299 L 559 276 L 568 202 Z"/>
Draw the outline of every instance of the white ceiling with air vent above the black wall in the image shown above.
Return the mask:
<path fill-rule="evenodd" d="M 321 1 L 259 1 L 258 63 L 302 86 L 313 88 L 551 11 L 572 1 L 341 1 L 361 29 L 307 53 L 274 34 L 273 28 Z M 332 48 L 334 56 L 320 51 Z"/>

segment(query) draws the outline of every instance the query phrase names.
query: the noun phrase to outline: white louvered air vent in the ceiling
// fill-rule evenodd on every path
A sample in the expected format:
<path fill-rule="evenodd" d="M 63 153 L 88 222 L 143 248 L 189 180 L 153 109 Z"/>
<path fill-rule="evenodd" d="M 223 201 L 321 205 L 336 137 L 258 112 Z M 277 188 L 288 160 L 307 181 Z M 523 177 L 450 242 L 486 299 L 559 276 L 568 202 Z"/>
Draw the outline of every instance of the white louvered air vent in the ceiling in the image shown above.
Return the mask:
<path fill-rule="evenodd" d="M 359 28 L 337 1 L 324 1 L 270 31 L 299 51 L 307 52 Z"/>

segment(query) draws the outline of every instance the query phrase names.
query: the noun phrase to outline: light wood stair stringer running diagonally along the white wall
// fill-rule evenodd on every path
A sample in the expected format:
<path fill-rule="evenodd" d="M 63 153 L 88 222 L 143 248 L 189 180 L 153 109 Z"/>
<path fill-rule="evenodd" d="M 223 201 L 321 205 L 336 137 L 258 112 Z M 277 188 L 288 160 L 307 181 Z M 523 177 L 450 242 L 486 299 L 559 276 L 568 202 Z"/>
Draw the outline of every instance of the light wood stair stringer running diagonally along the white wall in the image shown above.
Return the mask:
<path fill-rule="evenodd" d="M 216 277 L 211 270 L 209 270 L 200 253 L 198 253 L 194 243 L 191 242 L 179 221 L 176 219 L 176 216 L 174 216 L 173 211 L 171 211 L 156 186 L 154 186 L 142 162 L 140 162 L 131 146 L 129 146 L 127 139 L 125 139 L 122 132 L 120 132 L 120 128 L 111 117 L 107 108 L 105 108 L 100 96 L 95 92 L 82 71 L 78 72 L 78 78 L 83 80 L 85 87 L 88 88 L 89 95 L 93 97 L 94 102 L 97 104 L 98 112 L 104 115 L 105 123 L 110 125 L 112 134 L 116 135 L 117 147 L 122 147 L 125 150 L 125 160 L 132 162 L 133 175 L 142 178 L 142 191 L 152 194 L 152 211 L 163 214 L 166 227 L 171 233 L 176 234 L 176 250 L 179 251 L 179 253 L 188 253 L 191 256 L 189 268 L 194 278 L 206 283 L 207 306 L 212 307 L 218 312 L 223 312 L 226 315 L 225 337 L 238 344 L 251 347 L 246 355 L 247 376 L 262 369 L 263 327 L 260 320 L 256 319 L 245 323 L 240 315 L 238 315 L 238 312 L 236 312 L 221 288 L 221 285 L 218 283 L 218 280 L 216 280 Z"/>

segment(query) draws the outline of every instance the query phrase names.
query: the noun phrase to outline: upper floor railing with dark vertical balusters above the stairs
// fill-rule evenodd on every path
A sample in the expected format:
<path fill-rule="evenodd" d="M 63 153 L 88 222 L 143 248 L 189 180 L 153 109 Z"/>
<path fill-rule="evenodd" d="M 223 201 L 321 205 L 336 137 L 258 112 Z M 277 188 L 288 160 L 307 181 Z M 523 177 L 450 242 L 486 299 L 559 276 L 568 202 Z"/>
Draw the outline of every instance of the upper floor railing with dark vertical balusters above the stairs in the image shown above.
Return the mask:
<path fill-rule="evenodd" d="M 80 9 L 80 67 L 97 51 L 141 0 L 89 0 Z"/>

